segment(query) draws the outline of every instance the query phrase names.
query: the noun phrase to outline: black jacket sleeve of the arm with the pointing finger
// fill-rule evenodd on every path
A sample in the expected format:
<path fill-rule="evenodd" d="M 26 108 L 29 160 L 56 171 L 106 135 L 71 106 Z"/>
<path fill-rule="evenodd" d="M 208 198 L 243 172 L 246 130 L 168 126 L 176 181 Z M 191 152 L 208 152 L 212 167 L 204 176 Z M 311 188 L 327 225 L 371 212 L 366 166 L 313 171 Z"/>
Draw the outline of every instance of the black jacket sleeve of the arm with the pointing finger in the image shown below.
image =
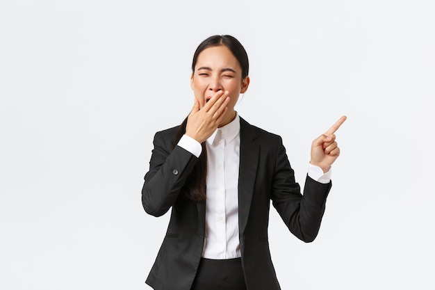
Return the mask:
<path fill-rule="evenodd" d="M 320 229 L 330 188 L 331 182 L 321 184 L 307 175 L 302 195 L 279 137 L 271 199 L 290 232 L 298 239 L 307 243 L 314 241 Z"/>

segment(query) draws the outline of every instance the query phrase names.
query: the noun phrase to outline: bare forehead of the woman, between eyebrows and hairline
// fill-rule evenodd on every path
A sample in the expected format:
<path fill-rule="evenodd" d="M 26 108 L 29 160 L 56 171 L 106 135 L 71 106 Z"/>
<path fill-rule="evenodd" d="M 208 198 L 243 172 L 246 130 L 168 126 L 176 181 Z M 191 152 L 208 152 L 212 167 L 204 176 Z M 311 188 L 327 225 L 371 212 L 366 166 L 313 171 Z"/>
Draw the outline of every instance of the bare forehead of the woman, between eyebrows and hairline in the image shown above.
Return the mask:
<path fill-rule="evenodd" d="M 229 48 L 224 45 L 208 47 L 201 51 L 195 68 L 204 66 L 211 67 L 212 69 L 231 67 L 234 70 L 240 71 L 240 64 L 237 58 L 232 54 Z"/>

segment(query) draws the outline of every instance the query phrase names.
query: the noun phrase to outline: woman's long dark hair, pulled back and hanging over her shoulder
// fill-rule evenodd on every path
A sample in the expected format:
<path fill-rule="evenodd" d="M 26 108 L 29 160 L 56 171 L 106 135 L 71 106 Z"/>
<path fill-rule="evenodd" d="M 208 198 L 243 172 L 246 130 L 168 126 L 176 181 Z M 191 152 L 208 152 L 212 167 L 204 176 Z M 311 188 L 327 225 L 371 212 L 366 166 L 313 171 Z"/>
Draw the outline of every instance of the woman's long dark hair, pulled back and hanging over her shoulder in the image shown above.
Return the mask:
<path fill-rule="evenodd" d="M 247 53 L 243 45 L 231 35 L 213 35 L 199 44 L 192 60 L 192 72 L 195 72 L 195 65 L 197 64 L 197 59 L 199 54 L 201 54 L 204 49 L 208 47 L 217 47 L 224 45 L 228 47 L 233 56 L 237 59 L 240 67 L 242 68 L 242 79 L 249 74 L 249 61 L 247 58 Z M 177 135 L 175 136 L 174 143 L 172 144 L 172 149 L 177 146 L 181 137 L 186 133 L 186 125 L 188 118 L 183 120 L 181 123 Z M 186 195 L 187 198 L 195 202 L 206 199 L 206 177 L 207 177 L 207 151 L 206 143 L 201 144 L 202 152 L 199 156 L 197 163 L 190 172 L 186 184 L 181 188 L 181 193 Z"/>

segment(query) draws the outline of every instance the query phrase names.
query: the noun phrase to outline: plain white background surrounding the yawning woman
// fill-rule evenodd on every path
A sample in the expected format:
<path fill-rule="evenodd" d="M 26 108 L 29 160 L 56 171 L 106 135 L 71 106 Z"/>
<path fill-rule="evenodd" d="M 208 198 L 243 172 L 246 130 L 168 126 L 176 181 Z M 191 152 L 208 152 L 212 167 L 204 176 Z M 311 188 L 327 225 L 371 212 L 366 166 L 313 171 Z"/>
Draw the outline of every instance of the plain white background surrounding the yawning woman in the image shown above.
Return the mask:
<path fill-rule="evenodd" d="M 154 133 L 192 106 L 199 42 L 249 54 L 236 106 L 303 186 L 340 115 L 318 239 L 271 210 L 285 289 L 433 289 L 435 2 L 0 2 L 0 289 L 150 289 L 169 215 L 140 202 Z"/>

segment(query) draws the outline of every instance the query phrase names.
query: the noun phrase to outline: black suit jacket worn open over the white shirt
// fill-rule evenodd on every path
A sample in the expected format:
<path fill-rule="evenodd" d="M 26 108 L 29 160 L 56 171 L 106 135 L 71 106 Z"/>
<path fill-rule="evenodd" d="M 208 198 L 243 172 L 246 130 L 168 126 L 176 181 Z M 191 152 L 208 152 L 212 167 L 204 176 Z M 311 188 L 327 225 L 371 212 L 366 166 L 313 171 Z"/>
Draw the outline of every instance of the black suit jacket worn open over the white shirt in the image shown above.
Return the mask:
<path fill-rule="evenodd" d="M 148 214 L 162 216 L 172 207 L 146 281 L 156 290 L 190 290 L 204 245 L 205 201 L 192 202 L 180 193 L 197 157 L 179 146 L 171 150 L 176 131 L 177 127 L 154 136 L 142 188 Z M 290 232 L 310 242 L 318 234 L 330 188 L 331 182 L 320 184 L 307 176 L 302 195 L 281 137 L 240 118 L 239 232 L 247 289 L 280 289 L 268 243 L 270 200 Z"/>

